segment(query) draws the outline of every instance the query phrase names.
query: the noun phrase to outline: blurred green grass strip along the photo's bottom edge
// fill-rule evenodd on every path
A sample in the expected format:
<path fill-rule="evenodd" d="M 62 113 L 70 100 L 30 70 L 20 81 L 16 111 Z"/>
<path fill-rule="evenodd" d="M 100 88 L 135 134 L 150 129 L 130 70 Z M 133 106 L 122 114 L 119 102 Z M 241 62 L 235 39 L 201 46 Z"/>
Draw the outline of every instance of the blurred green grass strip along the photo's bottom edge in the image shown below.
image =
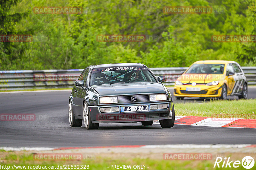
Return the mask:
<path fill-rule="evenodd" d="M 0 154 L 2 154 L 0 152 Z M 17 154 L 17 153 L 16 153 Z M 215 169 L 213 168 L 214 160 L 208 161 L 179 161 L 179 160 L 163 160 L 160 159 L 140 159 L 140 158 L 101 158 L 96 157 L 96 159 L 83 159 L 80 161 L 38 161 L 33 159 L 33 154 L 14 154 L 9 153 L 5 158 L 1 158 L 0 166 L 7 165 L 12 168 L 12 165 L 15 166 L 63 166 L 63 165 L 89 165 L 89 169 L 93 170 L 109 170 L 111 165 L 145 165 L 145 169 L 149 170 L 205 170 L 205 169 Z M 68 166 L 67 166 L 68 167 Z M 1 168 L 2 169 L 2 168 Z M 3 168 L 7 169 L 7 168 Z M 25 169 L 24 167 L 15 168 L 15 169 Z M 27 168 L 28 169 L 28 168 Z M 41 168 L 42 169 L 42 168 Z M 59 168 L 60 169 L 60 168 Z M 73 168 L 70 168 L 73 169 Z M 112 168 L 113 169 L 113 168 Z M 131 168 L 133 169 L 133 168 Z M 243 169 L 242 166 L 239 166 L 236 169 Z"/>

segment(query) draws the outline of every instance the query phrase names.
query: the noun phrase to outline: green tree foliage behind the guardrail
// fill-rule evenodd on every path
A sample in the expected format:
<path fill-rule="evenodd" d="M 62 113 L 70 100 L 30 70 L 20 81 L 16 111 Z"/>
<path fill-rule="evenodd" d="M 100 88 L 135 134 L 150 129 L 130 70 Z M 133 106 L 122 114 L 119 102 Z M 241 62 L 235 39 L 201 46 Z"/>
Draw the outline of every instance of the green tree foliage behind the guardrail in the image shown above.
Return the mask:
<path fill-rule="evenodd" d="M 143 63 L 188 67 L 196 60 L 256 65 L 255 43 L 212 42 L 212 35 L 256 35 L 255 0 L 0 0 L 0 70 L 72 69 Z M 34 7 L 83 7 L 82 14 L 36 14 Z M 212 6 L 210 14 L 165 14 L 164 6 Z M 98 35 L 146 35 L 142 42 L 99 42 Z"/>

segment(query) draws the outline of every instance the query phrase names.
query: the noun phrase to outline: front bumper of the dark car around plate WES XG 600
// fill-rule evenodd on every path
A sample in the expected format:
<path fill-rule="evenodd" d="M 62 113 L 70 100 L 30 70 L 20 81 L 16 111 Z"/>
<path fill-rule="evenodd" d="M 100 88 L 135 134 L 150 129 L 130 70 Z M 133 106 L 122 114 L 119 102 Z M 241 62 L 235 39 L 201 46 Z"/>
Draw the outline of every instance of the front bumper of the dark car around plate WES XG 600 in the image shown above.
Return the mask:
<path fill-rule="evenodd" d="M 168 104 L 166 109 L 151 110 L 150 105 L 153 104 Z M 121 112 L 122 106 L 140 106 L 148 105 L 149 111 L 140 112 Z M 119 107 L 118 112 L 101 113 L 100 108 Z M 171 108 L 171 109 L 170 109 Z M 137 104 L 116 104 L 116 105 L 100 105 L 88 106 L 91 115 L 92 123 L 126 123 L 126 122 L 141 122 L 152 120 L 163 120 L 172 118 L 172 102 L 154 102 L 154 103 L 137 103 Z"/>

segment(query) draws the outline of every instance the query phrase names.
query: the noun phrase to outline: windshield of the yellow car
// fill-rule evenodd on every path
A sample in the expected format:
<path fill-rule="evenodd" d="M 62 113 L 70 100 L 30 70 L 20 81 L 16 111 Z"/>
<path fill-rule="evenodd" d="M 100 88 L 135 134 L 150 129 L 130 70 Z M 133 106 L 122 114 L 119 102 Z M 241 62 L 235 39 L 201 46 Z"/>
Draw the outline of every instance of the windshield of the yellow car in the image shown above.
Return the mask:
<path fill-rule="evenodd" d="M 224 64 L 193 64 L 187 74 L 223 74 Z"/>

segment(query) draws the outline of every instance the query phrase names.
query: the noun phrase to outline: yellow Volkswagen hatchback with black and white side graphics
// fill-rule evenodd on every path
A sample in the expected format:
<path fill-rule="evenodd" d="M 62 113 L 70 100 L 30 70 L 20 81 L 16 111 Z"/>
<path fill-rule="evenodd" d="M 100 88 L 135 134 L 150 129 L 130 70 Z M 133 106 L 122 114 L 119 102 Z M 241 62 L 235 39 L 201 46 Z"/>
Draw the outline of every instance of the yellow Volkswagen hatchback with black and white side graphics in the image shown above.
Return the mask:
<path fill-rule="evenodd" d="M 194 62 L 175 81 L 174 96 L 220 97 L 248 96 L 247 81 L 240 65 L 235 61 L 204 60 Z"/>

